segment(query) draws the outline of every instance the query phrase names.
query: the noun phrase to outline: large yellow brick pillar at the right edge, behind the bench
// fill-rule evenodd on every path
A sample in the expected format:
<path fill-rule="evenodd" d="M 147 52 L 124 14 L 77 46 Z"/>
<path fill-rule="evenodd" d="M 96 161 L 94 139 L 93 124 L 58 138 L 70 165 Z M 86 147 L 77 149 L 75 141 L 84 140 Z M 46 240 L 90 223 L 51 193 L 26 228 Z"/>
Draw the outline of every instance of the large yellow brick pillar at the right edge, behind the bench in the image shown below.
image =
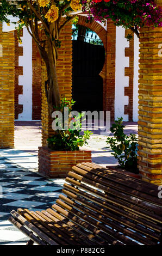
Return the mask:
<path fill-rule="evenodd" d="M 157 3 L 162 5 L 162 0 Z M 139 170 L 162 184 L 162 28 L 140 29 Z"/>

